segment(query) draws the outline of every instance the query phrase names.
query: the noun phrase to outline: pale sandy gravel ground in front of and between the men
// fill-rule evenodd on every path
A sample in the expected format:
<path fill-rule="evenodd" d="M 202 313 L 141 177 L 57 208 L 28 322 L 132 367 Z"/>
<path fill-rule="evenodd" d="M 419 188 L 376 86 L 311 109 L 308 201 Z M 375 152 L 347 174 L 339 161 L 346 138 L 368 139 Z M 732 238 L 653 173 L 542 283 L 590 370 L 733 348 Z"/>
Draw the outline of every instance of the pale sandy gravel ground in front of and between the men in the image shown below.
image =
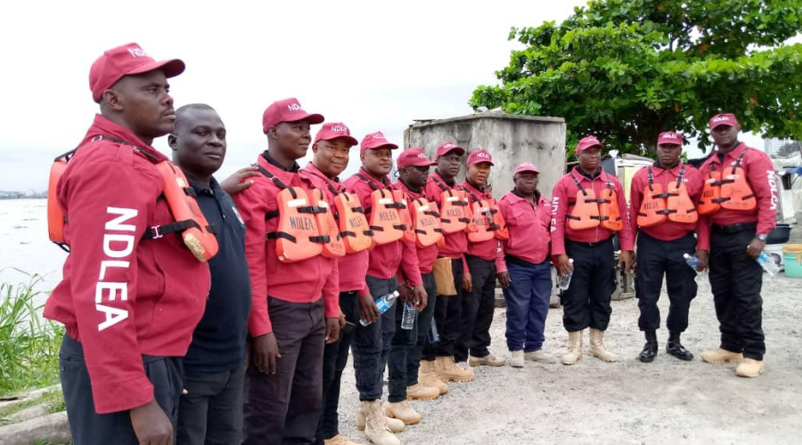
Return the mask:
<path fill-rule="evenodd" d="M 618 363 L 585 355 L 573 367 L 528 362 L 525 368 L 477 368 L 475 381 L 451 384 L 451 392 L 436 401 L 414 401 L 423 420 L 398 437 L 405 444 L 438 445 L 802 443 L 802 279 L 765 275 L 766 372 L 757 379 L 735 376 L 734 365 L 700 360 L 700 352 L 718 344 L 718 323 L 707 279 L 698 280 L 699 295 L 683 336 L 694 360 L 683 362 L 665 353 L 663 328 L 658 358 L 650 364 L 638 361 L 644 341 L 637 328 L 637 302 L 613 302 L 605 343 L 618 353 Z M 561 320 L 561 309 L 552 309 L 544 350 L 555 355 L 568 338 Z M 506 357 L 505 322 L 504 310 L 497 309 L 491 350 Z M 340 398 L 340 433 L 366 442 L 354 425 L 354 384 L 349 365 Z M 386 391 L 385 386 L 385 398 Z"/>

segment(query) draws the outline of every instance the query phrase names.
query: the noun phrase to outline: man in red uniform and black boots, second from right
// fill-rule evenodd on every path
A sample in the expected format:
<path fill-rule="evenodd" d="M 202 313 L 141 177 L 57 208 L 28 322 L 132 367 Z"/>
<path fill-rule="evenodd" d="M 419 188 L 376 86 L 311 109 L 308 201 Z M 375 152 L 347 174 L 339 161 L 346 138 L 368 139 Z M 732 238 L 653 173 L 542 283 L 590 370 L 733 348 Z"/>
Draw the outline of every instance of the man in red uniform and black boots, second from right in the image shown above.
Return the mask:
<path fill-rule="evenodd" d="M 637 238 L 638 268 L 635 270 L 637 279 L 635 286 L 638 296 L 638 308 L 641 317 L 638 327 L 646 336 L 646 344 L 639 357 L 643 363 L 654 360 L 658 351 L 657 329 L 660 327 L 660 311 L 658 301 L 660 288 L 663 286 L 663 276 L 666 276 L 668 290 L 668 343 L 666 352 L 680 360 L 693 360 L 693 354 L 683 347 L 680 335 L 688 328 L 688 311 L 691 301 L 696 297 L 696 272 L 693 271 L 683 258 L 684 254 L 697 255 L 699 258 L 698 271 L 707 267 L 708 253 L 697 250 L 693 231 L 697 229 L 697 222 L 683 223 L 673 221 L 672 214 L 687 211 L 688 209 L 669 209 L 667 197 L 655 197 L 667 193 L 674 184 L 683 184 L 687 190 L 689 206 L 696 203 L 702 189 L 702 178 L 699 171 L 688 166 L 680 159 L 683 152 L 683 135 L 667 132 L 658 137 L 658 160 L 652 166 L 642 168 L 632 179 L 630 189 L 630 223 L 633 236 Z M 657 184 L 658 189 L 655 189 Z M 678 197 L 679 198 L 679 197 Z M 666 206 L 666 211 L 654 213 L 661 223 L 655 223 L 646 217 L 646 208 L 642 208 L 644 199 L 647 206 L 658 203 Z M 653 209 L 651 209 L 653 210 Z M 696 214 L 693 209 L 690 214 Z M 639 215 L 641 223 L 639 223 Z M 700 232 L 709 230 L 707 225 L 700 226 Z M 704 236 L 704 233 L 702 235 Z"/>

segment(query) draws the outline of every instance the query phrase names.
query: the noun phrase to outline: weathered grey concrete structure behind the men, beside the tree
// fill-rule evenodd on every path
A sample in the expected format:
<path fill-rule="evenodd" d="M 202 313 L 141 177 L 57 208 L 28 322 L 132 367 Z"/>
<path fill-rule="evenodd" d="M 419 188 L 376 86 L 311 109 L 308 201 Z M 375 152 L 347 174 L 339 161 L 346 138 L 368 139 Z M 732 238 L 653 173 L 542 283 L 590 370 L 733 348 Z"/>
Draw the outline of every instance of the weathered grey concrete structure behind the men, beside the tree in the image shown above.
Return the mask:
<path fill-rule="evenodd" d="M 421 147 L 430 157 L 446 141 L 456 142 L 468 152 L 484 149 L 492 153 L 495 166 L 490 184 L 495 198 L 512 189 L 512 172 L 521 162 L 540 169 L 538 189 L 548 196 L 565 171 L 565 120 L 561 117 L 486 112 L 418 122 L 404 132 L 405 148 Z M 462 168 L 460 181 L 464 174 Z"/>

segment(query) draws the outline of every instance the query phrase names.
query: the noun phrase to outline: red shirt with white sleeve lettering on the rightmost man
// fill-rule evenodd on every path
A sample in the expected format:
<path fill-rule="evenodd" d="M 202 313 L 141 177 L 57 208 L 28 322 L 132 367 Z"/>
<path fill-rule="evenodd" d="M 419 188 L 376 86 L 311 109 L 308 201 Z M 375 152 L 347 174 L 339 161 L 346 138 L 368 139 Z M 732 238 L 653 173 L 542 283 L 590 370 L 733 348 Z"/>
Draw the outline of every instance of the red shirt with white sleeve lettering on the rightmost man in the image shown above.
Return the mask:
<path fill-rule="evenodd" d="M 708 214 L 700 219 L 702 223 L 713 223 L 715 225 L 732 225 L 737 223 L 757 223 L 757 233 L 768 235 L 776 226 L 777 217 L 777 179 L 774 174 L 772 160 L 763 151 L 749 149 L 742 143 L 724 155 L 724 161 L 719 159 L 718 153 L 708 158 L 700 167 L 700 173 L 704 178 L 708 172 L 724 172 L 725 168 L 732 168 L 735 161 L 741 157 L 741 152 L 747 150 L 741 160 L 741 168 L 746 176 L 747 182 L 752 192 L 757 198 L 757 206 L 751 211 L 729 210 L 722 207 L 715 214 Z M 731 171 L 731 170 L 730 170 Z M 728 173 L 722 173 L 722 175 Z M 709 232 L 702 238 L 700 231 L 700 249 L 710 249 Z"/>

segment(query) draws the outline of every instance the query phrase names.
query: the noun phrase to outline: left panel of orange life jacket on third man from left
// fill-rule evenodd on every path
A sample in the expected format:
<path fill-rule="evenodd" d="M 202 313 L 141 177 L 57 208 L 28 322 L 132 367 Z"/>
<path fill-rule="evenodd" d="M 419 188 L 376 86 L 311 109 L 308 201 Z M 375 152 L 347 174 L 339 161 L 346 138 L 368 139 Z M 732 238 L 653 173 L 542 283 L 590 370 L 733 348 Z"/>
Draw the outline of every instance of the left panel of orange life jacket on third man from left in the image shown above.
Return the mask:
<path fill-rule="evenodd" d="M 323 254 L 323 245 L 331 242 L 331 238 L 320 230 L 317 215 L 325 210 L 313 206 L 302 188 L 289 187 L 265 167 L 257 167 L 259 173 L 280 189 L 275 197 L 278 209 L 265 215 L 266 220 L 278 217 L 276 231 L 268 232 L 266 239 L 275 239 L 279 261 L 295 263 Z"/>

